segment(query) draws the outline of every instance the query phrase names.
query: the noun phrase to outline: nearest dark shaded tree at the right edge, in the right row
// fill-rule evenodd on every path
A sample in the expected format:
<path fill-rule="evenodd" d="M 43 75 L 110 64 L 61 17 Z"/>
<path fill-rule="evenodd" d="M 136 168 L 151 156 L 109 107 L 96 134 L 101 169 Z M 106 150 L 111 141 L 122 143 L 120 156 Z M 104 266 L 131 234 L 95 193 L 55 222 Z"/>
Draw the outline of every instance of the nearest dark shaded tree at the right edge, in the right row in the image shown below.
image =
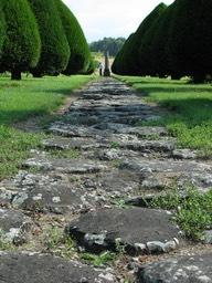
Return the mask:
<path fill-rule="evenodd" d="M 177 0 L 172 17 L 172 67 L 194 82 L 212 74 L 212 1 Z"/>

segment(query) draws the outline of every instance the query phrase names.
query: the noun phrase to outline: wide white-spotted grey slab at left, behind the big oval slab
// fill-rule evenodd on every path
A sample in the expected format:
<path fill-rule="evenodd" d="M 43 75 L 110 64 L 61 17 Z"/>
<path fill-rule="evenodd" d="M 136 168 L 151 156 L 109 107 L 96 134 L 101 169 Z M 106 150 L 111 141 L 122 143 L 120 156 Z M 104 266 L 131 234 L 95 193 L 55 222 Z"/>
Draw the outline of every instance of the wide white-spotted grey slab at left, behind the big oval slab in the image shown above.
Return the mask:
<path fill-rule="evenodd" d="M 85 180 L 85 177 L 82 178 Z M 73 213 L 109 199 L 99 195 L 98 188 L 88 189 L 86 182 L 83 186 L 83 180 L 77 175 L 68 177 L 20 171 L 12 179 L 1 182 L 1 203 L 28 211 Z"/>

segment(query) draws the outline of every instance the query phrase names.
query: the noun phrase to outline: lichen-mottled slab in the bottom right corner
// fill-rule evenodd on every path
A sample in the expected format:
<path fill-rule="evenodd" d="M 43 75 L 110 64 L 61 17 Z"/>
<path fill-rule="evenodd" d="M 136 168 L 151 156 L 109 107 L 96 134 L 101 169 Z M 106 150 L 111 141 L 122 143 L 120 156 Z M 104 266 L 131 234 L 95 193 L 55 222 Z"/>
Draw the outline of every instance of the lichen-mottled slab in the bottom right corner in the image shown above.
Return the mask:
<path fill-rule="evenodd" d="M 170 258 L 140 268 L 140 283 L 210 283 L 212 282 L 211 254 Z"/>

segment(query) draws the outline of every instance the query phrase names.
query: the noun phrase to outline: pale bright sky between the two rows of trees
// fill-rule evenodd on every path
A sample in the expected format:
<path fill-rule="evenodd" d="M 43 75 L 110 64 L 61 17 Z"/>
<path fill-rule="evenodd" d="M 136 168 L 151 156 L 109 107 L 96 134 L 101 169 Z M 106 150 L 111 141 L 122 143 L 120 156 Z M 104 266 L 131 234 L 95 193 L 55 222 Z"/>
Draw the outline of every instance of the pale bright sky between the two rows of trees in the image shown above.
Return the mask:
<path fill-rule="evenodd" d="M 62 0 L 78 20 L 88 43 L 104 38 L 128 38 L 161 2 L 174 0 Z"/>

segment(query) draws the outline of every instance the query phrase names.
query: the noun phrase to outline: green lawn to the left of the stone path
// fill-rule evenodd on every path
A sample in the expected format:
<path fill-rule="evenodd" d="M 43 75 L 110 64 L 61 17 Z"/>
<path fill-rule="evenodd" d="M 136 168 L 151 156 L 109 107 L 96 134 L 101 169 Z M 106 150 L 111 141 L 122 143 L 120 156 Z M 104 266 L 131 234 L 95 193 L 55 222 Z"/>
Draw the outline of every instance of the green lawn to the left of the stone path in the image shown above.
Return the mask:
<path fill-rule="evenodd" d="M 23 76 L 22 81 L 0 77 L 0 179 L 17 174 L 22 160 L 30 157 L 30 149 L 40 148 L 41 139 L 46 138 L 42 130 L 25 133 L 13 125 L 36 116 L 51 120 L 65 98 L 91 80 L 95 76 Z"/>

